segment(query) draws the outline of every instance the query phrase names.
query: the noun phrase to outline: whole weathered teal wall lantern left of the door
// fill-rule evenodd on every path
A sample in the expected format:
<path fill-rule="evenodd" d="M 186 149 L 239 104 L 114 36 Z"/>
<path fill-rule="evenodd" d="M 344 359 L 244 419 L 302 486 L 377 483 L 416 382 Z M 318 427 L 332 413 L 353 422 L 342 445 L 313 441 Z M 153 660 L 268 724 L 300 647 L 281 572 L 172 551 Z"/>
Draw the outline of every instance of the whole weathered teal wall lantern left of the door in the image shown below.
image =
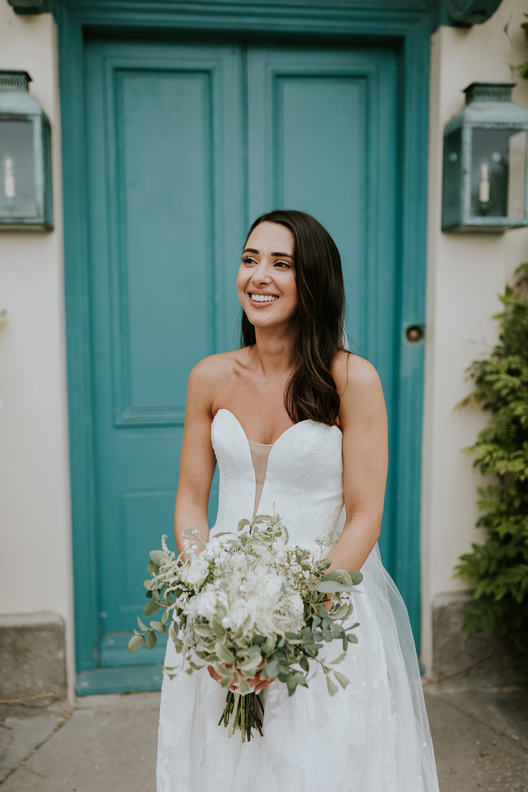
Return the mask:
<path fill-rule="evenodd" d="M 0 230 L 51 230 L 50 122 L 27 71 L 0 71 Z"/>

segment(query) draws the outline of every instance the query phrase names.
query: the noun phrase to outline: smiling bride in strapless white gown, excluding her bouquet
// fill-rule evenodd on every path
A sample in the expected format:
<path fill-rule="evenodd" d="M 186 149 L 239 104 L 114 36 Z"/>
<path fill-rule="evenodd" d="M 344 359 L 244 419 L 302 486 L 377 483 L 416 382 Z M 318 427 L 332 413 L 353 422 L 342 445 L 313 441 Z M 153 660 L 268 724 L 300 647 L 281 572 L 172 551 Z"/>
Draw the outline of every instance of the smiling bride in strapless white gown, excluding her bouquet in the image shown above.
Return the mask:
<path fill-rule="evenodd" d="M 358 643 L 341 663 L 350 683 L 332 698 L 321 671 L 291 697 L 278 680 L 257 676 L 264 737 L 249 744 L 218 727 L 226 691 L 213 668 L 165 676 L 158 792 L 438 792 L 408 615 L 377 545 L 387 471 L 382 385 L 344 348 L 336 245 L 311 215 L 263 215 L 245 242 L 237 291 L 244 346 L 207 357 L 189 377 L 178 550 L 187 526 L 209 535 L 218 463 L 211 535 L 275 505 L 299 546 L 340 536 L 329 571 L 363 572 L 353 595 Z M 340 649 L 329 645 L 326 657 L 333 653 Z M 165 665 L 175 664 L 169 640 Z"/>

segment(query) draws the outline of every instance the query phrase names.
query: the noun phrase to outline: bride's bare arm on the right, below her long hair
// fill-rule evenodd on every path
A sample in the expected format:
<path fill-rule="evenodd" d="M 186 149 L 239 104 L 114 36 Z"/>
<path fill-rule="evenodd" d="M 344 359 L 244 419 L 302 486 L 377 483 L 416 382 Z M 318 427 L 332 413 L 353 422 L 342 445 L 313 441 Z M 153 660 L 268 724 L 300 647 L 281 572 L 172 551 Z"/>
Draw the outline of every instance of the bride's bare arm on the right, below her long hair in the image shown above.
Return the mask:
<path fill-rule="evenodd" d="M 387 478 L 387 413 L 378 372 L 342 355 L 334 367 L 341 398 L 344 507 L 347 521 L 329 552 L 332 569 L 359 570 L 378 541 Z"/>

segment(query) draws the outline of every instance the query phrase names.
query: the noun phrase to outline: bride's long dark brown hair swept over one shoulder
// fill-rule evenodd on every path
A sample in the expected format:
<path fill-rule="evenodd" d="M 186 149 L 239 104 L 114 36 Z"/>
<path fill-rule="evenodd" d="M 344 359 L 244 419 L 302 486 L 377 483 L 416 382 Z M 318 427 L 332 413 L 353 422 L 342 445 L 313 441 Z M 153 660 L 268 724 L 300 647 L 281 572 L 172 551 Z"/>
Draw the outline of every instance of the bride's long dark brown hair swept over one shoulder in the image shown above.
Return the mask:
<path fill-rule="evenodd" d="M 336 243 L 325 227 L 304 211 L 277 209 L 261 215 L 260 223 L 278 223 L 294 236 L 294 277 L 298 309 L 294 318 L 294 370 L 284 391 L 284 406 L 294 424 L 310 418 L 336 423 L 340 398 L 332 363 L 344 348 L 344 284 Z M 255 344 L 255 327 L 242 312 L 241 344 Z"/>

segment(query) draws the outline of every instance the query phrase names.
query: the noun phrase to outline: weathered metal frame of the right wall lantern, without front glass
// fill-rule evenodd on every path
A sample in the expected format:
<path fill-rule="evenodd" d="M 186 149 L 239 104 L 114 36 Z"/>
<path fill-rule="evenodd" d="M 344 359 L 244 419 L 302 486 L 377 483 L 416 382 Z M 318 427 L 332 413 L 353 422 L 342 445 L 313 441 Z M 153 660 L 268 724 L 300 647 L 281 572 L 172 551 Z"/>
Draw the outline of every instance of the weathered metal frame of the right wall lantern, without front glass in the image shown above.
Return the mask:
<path fill-rule="evenodd" d="M 464 89 L 466 105 L 443 133 L 442 230 L 458 233 L 502 233 L 528 225 L 528 109 L 511 101 L 515 82 L 472 82 Z M 476 215 L 471 206 L 473 131 L 526 132 L 524 215 Z M 450 158 L 450 143 L 459 136 Z"/>

